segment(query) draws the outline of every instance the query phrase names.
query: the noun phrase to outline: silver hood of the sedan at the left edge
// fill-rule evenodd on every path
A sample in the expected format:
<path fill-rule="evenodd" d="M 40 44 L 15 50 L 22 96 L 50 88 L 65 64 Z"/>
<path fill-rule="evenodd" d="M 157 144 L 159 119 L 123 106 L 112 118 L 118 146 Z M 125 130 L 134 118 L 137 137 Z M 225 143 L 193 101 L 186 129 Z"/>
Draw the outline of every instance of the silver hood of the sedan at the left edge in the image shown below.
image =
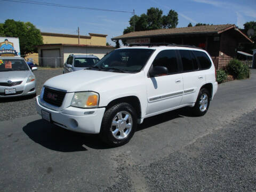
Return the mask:
<path fill-rule="evenodd" d="M 2 71 L 0 72 L 0 82 L 11 81 L 23 81 L 28 78 L 31 74 L 30 70 L 23 71 Z"/>

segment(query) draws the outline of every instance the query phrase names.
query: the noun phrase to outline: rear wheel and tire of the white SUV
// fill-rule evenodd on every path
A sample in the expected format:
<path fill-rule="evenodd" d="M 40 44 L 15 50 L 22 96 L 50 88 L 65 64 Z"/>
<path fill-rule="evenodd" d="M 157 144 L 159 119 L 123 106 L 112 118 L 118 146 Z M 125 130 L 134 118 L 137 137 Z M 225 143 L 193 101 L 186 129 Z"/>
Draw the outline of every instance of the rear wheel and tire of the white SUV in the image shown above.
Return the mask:
<path fill-rule="evenodd" d="M 199 91 L 195 106 L 192 112 L 196 116 L 203 116 L 206 114 L 210 106 L 210 93 L 207 89 L 203 88 Z"/>

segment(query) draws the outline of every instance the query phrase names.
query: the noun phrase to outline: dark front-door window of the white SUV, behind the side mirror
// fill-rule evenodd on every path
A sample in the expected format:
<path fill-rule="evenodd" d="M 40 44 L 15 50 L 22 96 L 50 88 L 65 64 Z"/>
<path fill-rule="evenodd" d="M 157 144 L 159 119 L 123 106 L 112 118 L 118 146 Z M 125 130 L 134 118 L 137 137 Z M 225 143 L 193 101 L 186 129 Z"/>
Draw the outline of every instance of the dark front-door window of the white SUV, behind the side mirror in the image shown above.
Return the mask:
<path fill-rule="evenodd" d="M 163 66 L 168 69 L 168 74 L 178 73 L 178 62 L 175 50 L 164 50 L 157 54 L 153 66 Z"/>

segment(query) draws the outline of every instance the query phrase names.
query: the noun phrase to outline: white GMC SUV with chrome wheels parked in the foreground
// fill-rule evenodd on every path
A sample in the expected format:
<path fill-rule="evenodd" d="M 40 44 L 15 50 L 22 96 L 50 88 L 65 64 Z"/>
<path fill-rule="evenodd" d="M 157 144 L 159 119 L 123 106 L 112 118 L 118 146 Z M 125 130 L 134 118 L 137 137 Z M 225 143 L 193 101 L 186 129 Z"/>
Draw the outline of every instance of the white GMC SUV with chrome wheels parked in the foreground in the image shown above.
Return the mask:
<path fill-rule="evenodd" d="M 53 77 L 37 112 L 65 129 L 100 133 L 111 146 L 128 142 L 144 118 L 189 106 L 206 113 L 217 92 L 210 55 L 189 46 L 131 46 L 93 67 Z"/>

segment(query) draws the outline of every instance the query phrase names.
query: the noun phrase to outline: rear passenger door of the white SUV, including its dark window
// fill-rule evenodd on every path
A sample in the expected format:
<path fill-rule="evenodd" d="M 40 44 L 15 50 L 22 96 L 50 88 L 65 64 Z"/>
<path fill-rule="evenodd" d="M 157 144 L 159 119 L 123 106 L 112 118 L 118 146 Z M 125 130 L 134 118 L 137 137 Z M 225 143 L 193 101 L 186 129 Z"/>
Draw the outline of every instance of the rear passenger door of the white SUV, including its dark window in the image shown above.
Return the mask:
<path fill-rule="evenodd" d="M 205 82 L 205 75 L 199 70 L 197 59 L 190 50 L 179 50 L 182 63 L 183 98 L 181 105 L 193 103 L 197 99 L 197 93 Z"/>

